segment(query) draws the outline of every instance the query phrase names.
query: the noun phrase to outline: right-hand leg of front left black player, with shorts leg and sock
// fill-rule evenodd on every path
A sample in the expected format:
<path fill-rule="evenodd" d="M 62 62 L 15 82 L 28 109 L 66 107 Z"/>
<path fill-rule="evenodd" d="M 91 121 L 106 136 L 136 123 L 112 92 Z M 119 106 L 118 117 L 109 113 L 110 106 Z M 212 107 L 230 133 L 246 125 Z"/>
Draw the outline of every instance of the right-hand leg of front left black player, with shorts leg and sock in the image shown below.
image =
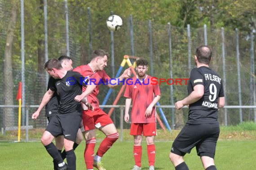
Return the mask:
<path fill-rule="evenodd" d="M 76 156 L 73 145 L 82 120 L 81 116 L 78 114 L 79 113 L 74 112 L 73 114 L 59 115 L 64 135 L 64 148 L 66 150 L 66 161 L 69 170 L 76 169 Z"/>

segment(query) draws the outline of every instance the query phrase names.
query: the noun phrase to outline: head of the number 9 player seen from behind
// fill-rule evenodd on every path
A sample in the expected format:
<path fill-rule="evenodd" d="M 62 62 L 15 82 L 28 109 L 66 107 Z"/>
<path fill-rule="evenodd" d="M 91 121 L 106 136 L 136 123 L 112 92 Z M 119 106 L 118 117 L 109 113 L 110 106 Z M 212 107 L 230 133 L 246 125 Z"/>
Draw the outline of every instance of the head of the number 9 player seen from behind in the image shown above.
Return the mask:
<path fill-rule="evenodd" d="M 195 56 L 199 63 L 209 65 L 212 59 L 212 49 L 208 46 L 200 46 L 196 49 Z"/>

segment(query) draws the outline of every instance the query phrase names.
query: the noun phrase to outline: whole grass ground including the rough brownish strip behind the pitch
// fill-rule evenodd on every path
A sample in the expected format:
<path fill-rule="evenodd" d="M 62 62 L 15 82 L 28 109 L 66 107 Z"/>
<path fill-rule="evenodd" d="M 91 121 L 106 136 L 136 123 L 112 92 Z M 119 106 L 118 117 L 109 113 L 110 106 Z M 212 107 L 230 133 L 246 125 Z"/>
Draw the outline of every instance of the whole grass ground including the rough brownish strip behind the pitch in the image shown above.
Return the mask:
<path fill-rule="evenodd" d="M 0 170 L 53 170 L 52 158 L 40 143 L 44 129 L 29 131 L 33 142 L 10 142 L 17 140 L 17 131 L 8 131 L 0 134 Z M 158 130 L 156 136 L 156 163 L 155 170 L 174 170 L 169 161 L 169 152 L 172 141 L 179 130 L 163 132 Z M 105 136 L 97 132 L 97 144 Z M 26 139 L 22 131 L 21 139 Z M 123 142 L 118 140 L 104 155 L 106 170 L 131 170 L 134 165 L 133 138 L 129 129 L 124 129 Z M 84 163 L 84 141 L 75 150 L 77 170 L 86 170 Z M 97 151 L 95 149 L 95 152 Z M 142 170 L 148 169 L 146 142 L 143 140 Z M 185 156 L 190 170 L 203 170 L 200 158 L 195 149 Z M 256 124 L 253 122 L 241 123 L 237 126 L 221 127 L 220 137 L 216 148 L 215 163 L 218 170 L 255 170 L 256 168 Z"/>

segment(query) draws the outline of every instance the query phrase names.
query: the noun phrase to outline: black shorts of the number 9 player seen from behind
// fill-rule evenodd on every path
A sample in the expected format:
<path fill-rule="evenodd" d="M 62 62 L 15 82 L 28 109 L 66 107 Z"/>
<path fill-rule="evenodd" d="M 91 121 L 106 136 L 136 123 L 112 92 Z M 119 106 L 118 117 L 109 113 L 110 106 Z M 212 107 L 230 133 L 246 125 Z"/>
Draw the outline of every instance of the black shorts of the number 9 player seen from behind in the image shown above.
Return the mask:
<path fill-rule="evenodd" d="M 196 147 L 197 155 L 214 158 L 220 134 L 219 123 L 185 124 L 172 144 L 171 152 L 180 156 Z"/>

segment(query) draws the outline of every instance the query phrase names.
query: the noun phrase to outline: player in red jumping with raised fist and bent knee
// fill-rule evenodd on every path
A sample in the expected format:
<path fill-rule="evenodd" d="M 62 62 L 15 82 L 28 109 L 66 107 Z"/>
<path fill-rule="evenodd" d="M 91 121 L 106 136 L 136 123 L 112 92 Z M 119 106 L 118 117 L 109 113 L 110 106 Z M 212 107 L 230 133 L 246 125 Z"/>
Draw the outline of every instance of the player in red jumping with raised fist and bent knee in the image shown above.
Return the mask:
<path fill-rule="evenodd" d="M 102 166 L 101 158 L 119 137 L 119 133 L 117 132 L 113 121 L 99 108 L 99 100 L 97 98 L 100 88 L 99 84 L 105 84 L 112 88 L 131 75 L 130 68 L 128 68 L 118 79 L 111 79 L 110 81 L 110 77 L 104 71 L 104 68 L 107 66 L 108 56 L 109 54 L 103 50 L 95 50 L 93 51 L 91 56 L 92 60 L 89 64 L 81 65 L 73 70 L 79 72 L 90 80 L 87 87 L 83 87 L 84 93 L 76 96 L 75 100 L 81 101 L 83 98 L 86 98 L 95 108 L 94 111 L 92 111 L 88 110 L 88 108 L 83 105 L 82 119 L 85 130 L 83 134 L 86 140 L 84 160 L 87 170 L 93 170 L 93 166 L 98 170 L 105 170 Z M 94 147 L 96 143 L 95 127 L 102 131 L 106 135 L 106 138 L 102 141 L 94 156 Z"/>

